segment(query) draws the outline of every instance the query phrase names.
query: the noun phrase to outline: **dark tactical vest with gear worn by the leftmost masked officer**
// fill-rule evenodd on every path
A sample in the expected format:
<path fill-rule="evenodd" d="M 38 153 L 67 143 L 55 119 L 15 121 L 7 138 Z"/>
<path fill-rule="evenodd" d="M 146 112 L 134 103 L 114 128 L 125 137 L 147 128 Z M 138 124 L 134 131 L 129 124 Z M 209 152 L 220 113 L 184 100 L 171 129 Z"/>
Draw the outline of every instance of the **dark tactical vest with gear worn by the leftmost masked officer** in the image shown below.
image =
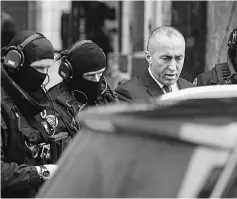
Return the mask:
<path fill-rule="evenodd" d="M 55 163 L 78 128 L 72 116 L 48 99 L 37 102 L 1 66 L 1 135 L 4 161 L 40 165 Z M 39 90 L 40 95 L 45 95 Z M 33 95 L 32 95 L 33 96 Z M 44 101 L 44 102 L 43 102 Z M 74 122 L 76 124 L 76 122 Z"/>

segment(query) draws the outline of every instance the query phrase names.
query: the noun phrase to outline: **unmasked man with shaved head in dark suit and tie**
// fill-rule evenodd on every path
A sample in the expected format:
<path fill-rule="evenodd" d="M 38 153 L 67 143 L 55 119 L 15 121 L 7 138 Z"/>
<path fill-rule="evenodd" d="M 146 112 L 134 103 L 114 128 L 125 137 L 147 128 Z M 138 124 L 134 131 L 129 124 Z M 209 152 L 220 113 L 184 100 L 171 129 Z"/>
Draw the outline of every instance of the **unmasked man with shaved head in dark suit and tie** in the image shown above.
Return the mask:
<path fill-rule="evenodd" d="M 152 31 L 147 44 L 148 69 L 116 88 L 121 102 L 152 99 L 194 85 L 179 75 L 185 58 L 185 39 L 175 28 L 161 26 Z"/>

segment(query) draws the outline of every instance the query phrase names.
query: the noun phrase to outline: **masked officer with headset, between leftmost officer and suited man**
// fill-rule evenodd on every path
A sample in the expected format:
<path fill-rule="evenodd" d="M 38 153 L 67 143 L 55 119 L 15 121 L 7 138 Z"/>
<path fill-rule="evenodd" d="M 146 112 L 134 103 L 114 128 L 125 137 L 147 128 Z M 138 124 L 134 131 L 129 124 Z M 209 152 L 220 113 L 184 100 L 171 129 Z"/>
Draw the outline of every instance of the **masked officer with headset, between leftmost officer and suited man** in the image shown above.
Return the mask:
<path fill-rule="evenodd" d="M 85 107 L 117 102 L 117 95 L 104 77 L 106 58 L 103 50 L 90 40 L 77 41 L 60 53 L 58 73 L 63 81 L 49 93 L 55 103 L 72 116 Z"/>

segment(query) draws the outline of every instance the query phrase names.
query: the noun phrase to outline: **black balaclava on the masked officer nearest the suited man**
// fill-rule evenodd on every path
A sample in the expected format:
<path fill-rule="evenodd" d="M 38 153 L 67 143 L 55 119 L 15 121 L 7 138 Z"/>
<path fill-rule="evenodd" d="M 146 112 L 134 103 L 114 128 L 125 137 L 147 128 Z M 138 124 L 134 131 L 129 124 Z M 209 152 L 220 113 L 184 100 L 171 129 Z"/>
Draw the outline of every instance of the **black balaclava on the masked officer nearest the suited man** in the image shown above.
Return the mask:
<path fill-rule="evenodd" d="M 101 82 L 86 80 L 83 73 L 101 70 L 106 67 L 106 58 L 102 49 L 95 43 L 85 43 L 68 57 L 73 68 L 73 78 L 69 82 L 72 90 L 82 91 L 88 98 L 89 103 L 100 96 Z"/>

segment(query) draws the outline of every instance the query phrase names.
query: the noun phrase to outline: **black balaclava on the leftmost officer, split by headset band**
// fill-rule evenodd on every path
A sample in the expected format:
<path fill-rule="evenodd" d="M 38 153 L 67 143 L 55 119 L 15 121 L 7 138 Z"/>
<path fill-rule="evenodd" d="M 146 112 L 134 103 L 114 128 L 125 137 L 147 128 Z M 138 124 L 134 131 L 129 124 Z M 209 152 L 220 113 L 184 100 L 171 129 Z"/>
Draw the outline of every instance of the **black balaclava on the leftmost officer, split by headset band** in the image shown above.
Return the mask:
<path fill-rule="evenodd" d="M 9 43 L 8 46 L 18 46 L 25 39 L 35 34 L 33 31 L 22 31 L 17 34 Z M 42 59 L 54 59 L 54 49 L 49 40 L 45 37 L 33 40 L 23 49 L 25 62 L 19 71 L 9 75 L 14 81 L 27 93 L 36 92 L 41 88 L 42 83 L 46 78 L 46 74 L 40 73 L 30 66 L 34 61 Z"/>

